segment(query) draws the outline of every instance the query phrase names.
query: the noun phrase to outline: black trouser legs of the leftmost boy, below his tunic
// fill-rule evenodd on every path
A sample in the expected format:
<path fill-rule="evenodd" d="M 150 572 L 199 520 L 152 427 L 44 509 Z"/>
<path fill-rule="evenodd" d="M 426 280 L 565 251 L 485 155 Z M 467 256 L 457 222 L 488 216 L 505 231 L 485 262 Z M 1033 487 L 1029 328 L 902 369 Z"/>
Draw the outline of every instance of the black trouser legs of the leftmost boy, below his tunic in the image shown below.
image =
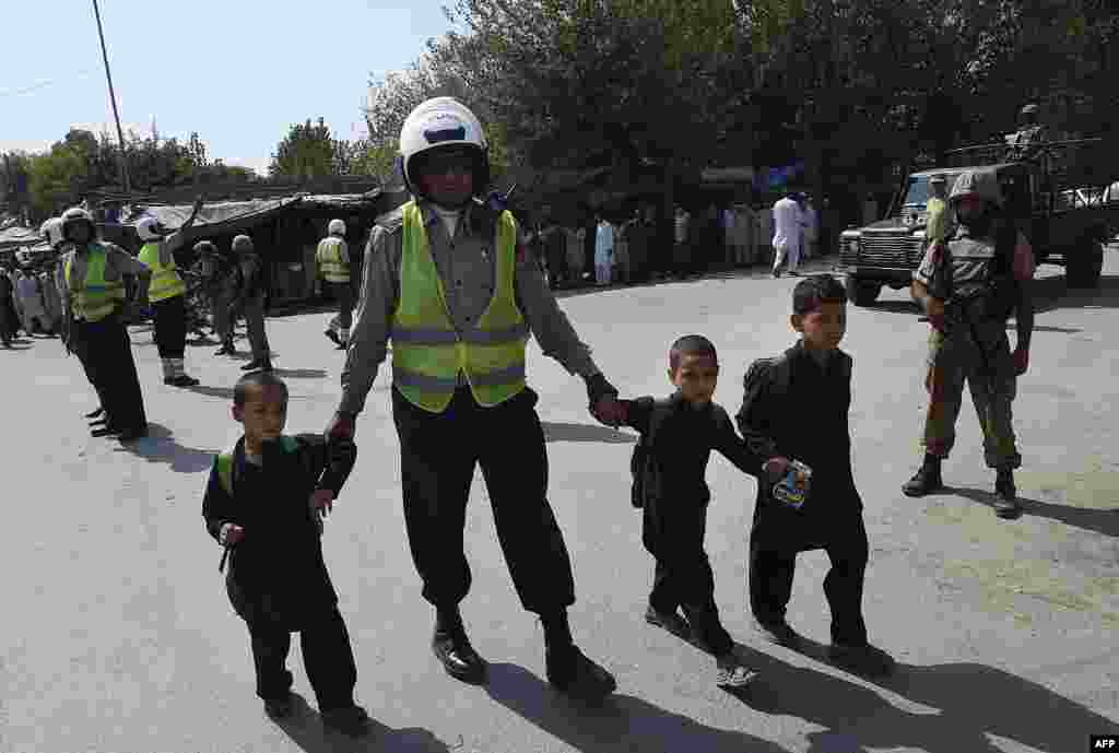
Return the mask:
<path fill-rule="evenodd" d="M 300 648 L 319 712 L 352 706 L 357 665 L 346 621 L 337 606 L 304 620 L 307 623 L 299 631 Z M 292 683 L 286 667 L 291 631 L 264 616 L 245 620 L 245 624 L 253 646 L 256 695 L 264 699 L 285 698 Z"/>

